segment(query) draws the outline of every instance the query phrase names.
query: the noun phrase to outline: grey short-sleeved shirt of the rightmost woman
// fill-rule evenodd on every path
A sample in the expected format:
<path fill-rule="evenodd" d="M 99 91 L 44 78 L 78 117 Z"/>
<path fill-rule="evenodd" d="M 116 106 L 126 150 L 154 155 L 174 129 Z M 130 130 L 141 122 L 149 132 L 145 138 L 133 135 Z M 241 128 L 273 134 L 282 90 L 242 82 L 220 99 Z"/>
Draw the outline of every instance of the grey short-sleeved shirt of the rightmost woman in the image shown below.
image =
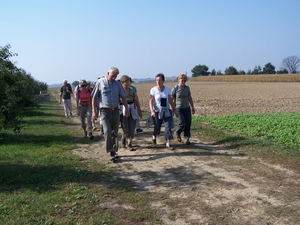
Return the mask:
<path fill-rule="evenodd" d="M 189 96 L 191 95 L 191 91 L 189 86 L 184 85 L 181 88 L 178 84 L 175 85 L 172 89 L 172 97 L 175 98 L 175 106 L 178 109 L 185 109 L 190 107 L 189 105 Z"/>

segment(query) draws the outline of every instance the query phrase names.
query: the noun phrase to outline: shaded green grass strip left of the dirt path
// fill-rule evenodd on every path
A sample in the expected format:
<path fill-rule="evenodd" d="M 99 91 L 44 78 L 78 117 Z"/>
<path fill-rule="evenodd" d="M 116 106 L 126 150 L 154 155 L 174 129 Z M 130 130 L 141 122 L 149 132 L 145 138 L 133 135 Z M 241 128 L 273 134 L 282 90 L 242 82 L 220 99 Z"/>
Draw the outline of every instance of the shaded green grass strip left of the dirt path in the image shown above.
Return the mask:
<path fill-rule="evenodd" d="M 51 101 L 25 113 L 21 133 L 0 133 L 1 224 L 124 224 L 132 210 L 101 206 L 110 202 L 136 206 L 130 223 L 159 221 L 111 167 L 71 154 L 82 135 L 71 121 Z"/>

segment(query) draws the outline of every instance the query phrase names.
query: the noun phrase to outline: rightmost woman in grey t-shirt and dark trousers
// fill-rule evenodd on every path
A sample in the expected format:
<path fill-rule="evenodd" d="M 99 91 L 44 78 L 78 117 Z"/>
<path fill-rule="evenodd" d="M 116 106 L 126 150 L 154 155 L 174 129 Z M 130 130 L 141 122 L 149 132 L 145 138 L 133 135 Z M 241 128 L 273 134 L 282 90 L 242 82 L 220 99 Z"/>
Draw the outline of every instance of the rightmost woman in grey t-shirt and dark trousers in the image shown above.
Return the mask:
<path fill-rule="evenodd" d="M 176 106 L 178 125 L 175 130 L 178 142 L 181 142 L 181 133 L 186 138 L 185 143 L 189 145 L 191 137 L 192 113 L 195 114 L 194 102 L 189 86 L 186 85 L 187 76 L 180 74 L 177 78 L 178 84 L 172 88 L 171 96 Z"/>

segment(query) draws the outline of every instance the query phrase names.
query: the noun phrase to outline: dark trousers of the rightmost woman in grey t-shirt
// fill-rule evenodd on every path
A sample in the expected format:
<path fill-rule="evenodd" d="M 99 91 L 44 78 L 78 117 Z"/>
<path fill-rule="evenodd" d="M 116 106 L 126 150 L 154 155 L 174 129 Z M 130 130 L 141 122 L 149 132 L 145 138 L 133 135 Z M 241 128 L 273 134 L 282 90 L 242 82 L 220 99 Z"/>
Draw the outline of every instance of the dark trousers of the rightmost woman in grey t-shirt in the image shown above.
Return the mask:
<path fill-rule="evenodd" d="M 191 137 L 191 124 L 192 124 L 192 113 L 191 108 L 176 109 L 178 112 L 178 125 L 176 133 L 181 134 L 183 132 L 185 137 Z"/>

